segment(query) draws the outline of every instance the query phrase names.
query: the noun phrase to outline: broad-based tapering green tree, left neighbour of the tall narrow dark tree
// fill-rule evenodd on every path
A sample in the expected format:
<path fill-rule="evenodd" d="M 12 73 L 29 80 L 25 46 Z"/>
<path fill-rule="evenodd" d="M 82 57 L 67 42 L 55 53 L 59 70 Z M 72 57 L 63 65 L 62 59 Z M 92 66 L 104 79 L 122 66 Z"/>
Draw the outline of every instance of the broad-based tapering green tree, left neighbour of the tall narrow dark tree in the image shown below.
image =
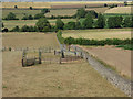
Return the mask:
<path fill-rule="evenodd" d="M 92 29 L 93 28 L 93 19 L 91 14 L 88 14 L 85 20 L 82 22 L 83 29 Z"/>

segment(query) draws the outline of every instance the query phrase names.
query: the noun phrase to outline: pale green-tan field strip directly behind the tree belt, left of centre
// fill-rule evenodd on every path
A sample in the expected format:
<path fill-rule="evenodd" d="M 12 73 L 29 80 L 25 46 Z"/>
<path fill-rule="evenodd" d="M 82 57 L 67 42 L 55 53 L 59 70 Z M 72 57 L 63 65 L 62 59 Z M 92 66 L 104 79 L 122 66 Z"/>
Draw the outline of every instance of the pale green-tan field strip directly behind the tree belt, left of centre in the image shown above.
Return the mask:
<path fill-rule="evenodd" d="M 49 20 L 51 25 L 55 25 L 57 20 Z M 75 19 L 62 19 L 64 23 L 68 23 L 70 21 L 75 21 Z M 13 29 L 14 26 L 22 28 L 23 25 L 34 26 L 38 20 L 11 20 L 11 21 L 2 21 L 4 24 L 4 28 L 8 28 L 9 30 Z"/>

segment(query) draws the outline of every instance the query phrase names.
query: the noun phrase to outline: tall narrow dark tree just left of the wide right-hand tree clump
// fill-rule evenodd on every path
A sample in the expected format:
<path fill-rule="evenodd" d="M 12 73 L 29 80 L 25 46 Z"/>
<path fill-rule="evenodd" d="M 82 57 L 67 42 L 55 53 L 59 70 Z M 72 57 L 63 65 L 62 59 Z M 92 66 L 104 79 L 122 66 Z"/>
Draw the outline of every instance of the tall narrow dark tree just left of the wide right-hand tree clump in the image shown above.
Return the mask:
<path fill-rule="evenodd" d="M 96 21 L 96 28 L 103 29 L 105 26 L 105 19 L 102 14 L 99 14 L 98 21 Z"/>

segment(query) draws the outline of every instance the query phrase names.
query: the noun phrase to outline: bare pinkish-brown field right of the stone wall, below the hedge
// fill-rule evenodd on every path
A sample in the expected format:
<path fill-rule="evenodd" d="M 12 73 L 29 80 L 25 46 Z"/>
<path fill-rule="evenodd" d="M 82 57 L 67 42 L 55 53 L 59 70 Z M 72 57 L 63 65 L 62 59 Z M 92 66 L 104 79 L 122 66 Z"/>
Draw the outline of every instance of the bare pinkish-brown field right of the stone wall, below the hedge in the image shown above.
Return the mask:
<path fill-rule="evenodd" d="M 121 75 L 131 77 L 131 52 L 115 46 L 83 47 L 91 55 L 113 66 Z"/>

